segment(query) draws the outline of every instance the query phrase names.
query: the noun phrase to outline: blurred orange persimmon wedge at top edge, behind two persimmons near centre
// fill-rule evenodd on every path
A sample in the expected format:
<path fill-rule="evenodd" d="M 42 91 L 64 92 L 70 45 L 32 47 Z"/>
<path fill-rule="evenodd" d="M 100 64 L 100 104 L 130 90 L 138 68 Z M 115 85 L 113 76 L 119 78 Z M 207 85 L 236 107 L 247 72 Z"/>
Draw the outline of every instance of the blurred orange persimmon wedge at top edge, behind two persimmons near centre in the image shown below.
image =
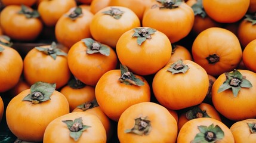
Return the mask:
<path fill-rule="evenodd" d="M 148 7 L 151 7 L 151 4 L 155 0 L 110 0 L 109 6 L 121 6 L 121 7 L 127 7 L 131 9 L 137 16 L 142 20 L 144 11 Z"/>

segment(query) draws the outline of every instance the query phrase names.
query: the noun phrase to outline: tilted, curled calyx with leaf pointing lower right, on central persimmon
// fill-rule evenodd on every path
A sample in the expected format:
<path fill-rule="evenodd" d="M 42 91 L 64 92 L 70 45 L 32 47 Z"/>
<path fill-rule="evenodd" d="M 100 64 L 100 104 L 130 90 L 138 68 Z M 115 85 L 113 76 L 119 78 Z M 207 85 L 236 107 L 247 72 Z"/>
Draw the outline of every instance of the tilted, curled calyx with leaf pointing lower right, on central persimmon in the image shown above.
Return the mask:
<path fill-rule="evenodd" d="M 128 68 L 121 64 L 121 77 L 119 78 L 119 81 L 122 83 L 125 83 L 125 85 L 137 85 L 137 86 L 143 86 L 144 82 L 137 77 L 133 73 L 131 73 Z"/>

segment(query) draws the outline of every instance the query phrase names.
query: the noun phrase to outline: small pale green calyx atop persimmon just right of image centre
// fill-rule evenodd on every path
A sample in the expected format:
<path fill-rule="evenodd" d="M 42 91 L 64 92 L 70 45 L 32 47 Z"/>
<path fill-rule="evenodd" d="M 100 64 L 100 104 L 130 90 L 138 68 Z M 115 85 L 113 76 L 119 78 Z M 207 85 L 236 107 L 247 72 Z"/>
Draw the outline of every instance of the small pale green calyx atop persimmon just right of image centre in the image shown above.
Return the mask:
<path fill-rule="evenodd" d="M 171 67 L 167 69 L 167 71 L 170 71 L 172 74 L 186 73 L 187 70 L 189 70 L 189 66 L 183 64 L 183 60 L 176 61 L 175 63 L 171 64 Z"/>

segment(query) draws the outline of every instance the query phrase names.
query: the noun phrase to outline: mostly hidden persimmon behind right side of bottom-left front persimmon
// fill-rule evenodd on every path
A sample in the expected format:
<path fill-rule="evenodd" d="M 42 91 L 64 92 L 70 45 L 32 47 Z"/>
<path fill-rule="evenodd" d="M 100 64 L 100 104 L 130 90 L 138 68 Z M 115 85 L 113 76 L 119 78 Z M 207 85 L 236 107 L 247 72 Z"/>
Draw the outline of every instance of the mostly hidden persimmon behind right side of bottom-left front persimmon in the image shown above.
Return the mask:
<path fill-rule="evenodd" d="M 84 112 L 88 114 L 94 114 L 95 116 L 98 117 L 98 119 L 100 119 L 101 123 L 103 124 L 106 130 L 107 141 L 109 141 L 112 138 L 112 135 L 113 135 L 112 123 L 109 117 L 107 117 L 106 114 L 103 113 L 103 111 L 100 109 L 95 99 L 84 102 L 81 105 L 78 105 L 72 112 Z"/>

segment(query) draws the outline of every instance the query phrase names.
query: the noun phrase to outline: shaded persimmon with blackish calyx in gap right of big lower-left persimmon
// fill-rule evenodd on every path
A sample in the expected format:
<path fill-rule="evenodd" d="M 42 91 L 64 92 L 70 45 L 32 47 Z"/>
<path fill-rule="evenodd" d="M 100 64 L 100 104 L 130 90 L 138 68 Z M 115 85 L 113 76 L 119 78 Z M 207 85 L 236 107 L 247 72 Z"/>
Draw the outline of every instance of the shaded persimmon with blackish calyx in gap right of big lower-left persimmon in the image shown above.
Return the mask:
<path fill-rule="evenodd" d="M 73 111 L 78 105 L 84 102 L 92 101 L 95 98 L 95 88 L 85 85 L 80 80 L 73 77 L 66 86 L 60 89 L 67 101 L 69 102 L 69 110 Z"/>

